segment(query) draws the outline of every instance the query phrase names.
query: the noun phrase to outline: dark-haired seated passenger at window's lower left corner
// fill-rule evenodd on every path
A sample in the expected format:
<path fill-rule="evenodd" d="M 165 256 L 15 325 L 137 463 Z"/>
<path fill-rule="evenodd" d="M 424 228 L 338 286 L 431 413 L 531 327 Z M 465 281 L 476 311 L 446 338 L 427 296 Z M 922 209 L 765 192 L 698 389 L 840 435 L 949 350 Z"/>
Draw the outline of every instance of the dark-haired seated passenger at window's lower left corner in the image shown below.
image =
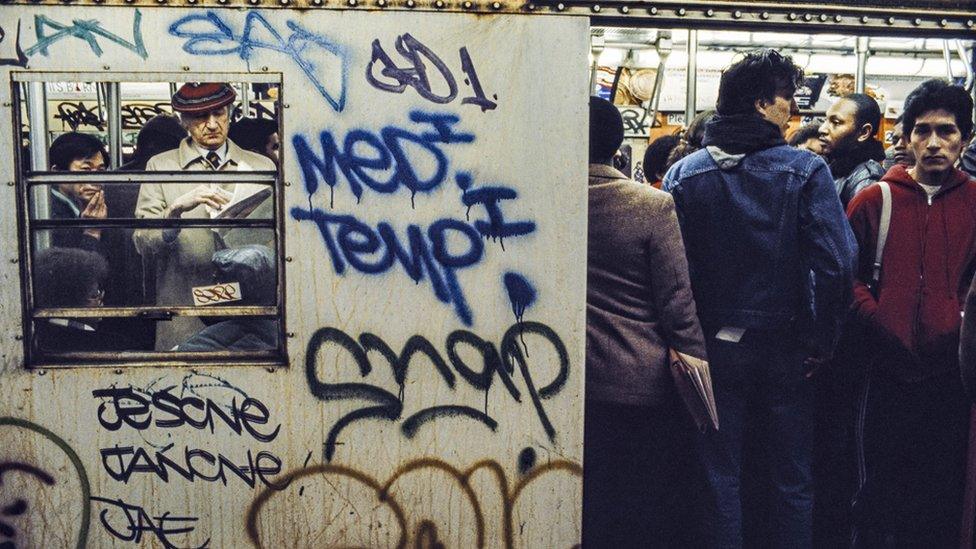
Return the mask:
<path fill-rule="evenodd" d="M 102 307 L 108 264 L 101 255 L 76 248 L 48 248 L 34 258 L 34 303 L 38 307 Z M 42 351 L 121 351 L 128 338 L 98 329 L 99 318 L 38 319 Z"/>

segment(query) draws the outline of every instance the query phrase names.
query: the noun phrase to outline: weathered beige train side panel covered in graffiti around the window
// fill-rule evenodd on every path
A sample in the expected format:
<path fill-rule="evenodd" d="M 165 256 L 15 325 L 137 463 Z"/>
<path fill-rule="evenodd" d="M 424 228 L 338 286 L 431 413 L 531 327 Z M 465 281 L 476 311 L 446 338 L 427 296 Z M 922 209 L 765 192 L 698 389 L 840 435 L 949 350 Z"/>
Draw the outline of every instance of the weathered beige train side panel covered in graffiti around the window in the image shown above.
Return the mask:
<path fill-rule="evenodd" d="M 14 262 L 17 194 L 14 187 L 0 185 L 0 509 L 14 505 L 9 509 L 22 511 L 0 516 L 14 533 L 10 537 L 0 531 L 0 543 L 578 543 L 586 249 L 585 19 L 30 6 L 0 7 L 0 14 L 0 76 L 5 82 L 10 82 L 12 71 L 23 70 L 170 71 L 196 75 L 194 79 L 219 78 L 221 72 L 282 74 L 287 106 L 284 174 L 290 183 L 285 191 L 286 254 L 292 259 L 285 273 L 287 331 L 294 334 L 288 340 L 289 365 L 276 371 L 189 366 L 120 373 L 114 368 L 25 370 L 19 340 L 22 281 L 20 265 Z M 197 20 L 180 22 L 187 17 Z M 247 45 L 242 33 L 248 18 L 254 25 L 250 49 L 241 45 L 242 40 Z M 221 25 L 233 36 L 219 38 Z M 145 56 L 137 47 L 139 39 Z M 420 49 L 417 44 L 429 50 L 422 57 L 429 91 L 417 84 L 396 93 L 368 82 L 374 47 L 381 47 L 397 67 L 410 66 L 397 52 L 398 39 L 415 50 Z M 223 53 L 215 54 L 218 50 Z M 211 54 L 203 55 L 205 51 Z M 19 52 L 26 68 L 17 66 Z M 467 73 L 462 52 L 473 67 Z M 435 57 L 442 60 L 443 70 Z M 482 110 L 464 101 L 475 97 L 475 72 L 483 99 L 496 108 Z M 417 79 L 409 71 L 384 77 L 380 67 L 372 73 L 389 85 L 399 85 L 397 78 Z M 457 86 L 455 96 L 437 99 L 451 95 L 449 79 Z M 436 96 L 436 101 L 422 97 L 418 88 Z M 0 173 L 7 178 L 3 181 L 13 181 L 9 84 L 0 86 L 0 100 Z M 422 121 L 431 116 L 457 119 Z M 438 157 L 432 151 L 441 151 L 443 181 L 413 197 L 402 185 L 391 193 L 364 186 L 357 200 L 339 172 L 333 196 L 321 177 L 316 178 L 317 191 L 309 193 L 294 140 L 307 142 L 321 158 L 323 132 L 341 149 L 352 131 L 379 143 L 384 128 L 388 140 L 400 136 L 404 158 L 421 179 L 436 173 Z M 445 138 L 448 128 L 472 139 Z M 356 154 L 377 154 L 365 145 L 357 147 L 361 148 Z M 374 175 L 386 181 L 390 173 Z M 484 186 L 516 191 L 517 198 L 499 199 L 498 208 L 505 223 L 532 222 L 534 230 L 504 239 L 462 238 L 462 230 L 475 230 L 476 220 L 490 219 L 483 203 L 465 206 L 459 180 L 471 181 L 469 196 Z M 442 262 L 451 260 L 439 261 L 432 253 L 432 264 L 444 281 L 439 298 L 427 266 L 414 282 L 399 261 L 370 274 L 362 272 L 368 270 L 365 266 L 350 264 L 339 248 L 330 251 L 316 224 L 299 219 L 310 211 L 352 216 L 371 232 L 388 223 L 408 251 L 409 225 L 419 227 L 425 247 L 431 249 L 437 245 L 437 231 L 443 230 L 448 235 L 444 254 L 465 263 L 462 256 L 480 249 L 471 258 L 480 257 L 463 268 L 445 270 Z M 352 218 L 329 222 L 328 236 L 335 246 L 342 245 L 339 225 Z M 377 263 L 381 256 L 360 259 Z M 524 315 L 519 310 L 519 319 L 518 303 L 513 304 L 504 284 L 507 273 L 517 273 L 535 289 L 534 302 Z M 400 385 L 389 361 L 371 351 L 366 355 L 371 370 L 362 374 L 363 365 L 357 366 L 350 352 L 321 339 L 338 337 L 337 330 L 360 342 L 361 334 L 375 334 L 397 354 L 408 339 L 421 336 L 442 357 L 446 370 L 439 372 L 429 357 L 418 353 L 409 360 Z M 511 340 L 507 353 L 501 349 L 506 332 Z M 455 337 L 461 342 L 454 342 Z M 457 350 L 453 360 L 447 351 L 449 339 Z M 490 376 L 488 390 L 476 387 L 477 374 L 485 366 L 471 342 L 487 342 L 485 348 L 492 350 L 488 356 L 519 349 L 525 366 L 510 363 L 511 389 L 498 373 Z M 565 379 L 558 375 L 560 345 L 567 361 Z M 459 371 L 458 365 L 470 372 Z M 350 383 L 360 385 L 340 385 Z M 147 414 L 135 414 L 131 423 L 120 421 L 111 398 L 93 395 L 99 390 L 122 394 L 129 388 L 146 399 L 152 413 L 148 425 L 139 424 L 149 419 Z M 201 399 L 186 401 L 186 413 L 194 421 L 205 418 L 194 404 L 207 399 L 224 414 L 247 408 L 244 413 L 252 419 L 245 419 L 239 432 L 217 416 L 212 426 L 161 427 L 156 421 L 173 420 L 178 414 L 153 406 L 150 395 L 168 388 L 173 395 Z M 131 398 L 125 401 L 127 406 L 139 404 Z M 262 405 L 267 407 L 266 423 L 260 422 Z M 352 421 L 334 445 L 326 444 L 330 431 L 350 417 L 347 414 L 378 405 L 386 406 L 382 413 Z M 548 432 L 546 419 L 551 422 Z M 139 456 L 142 451 L 145 456 Z M 189 462 L 192 481 L 172 466 L 166 473 L 154 471 L 157 452 L 181 468 L 188 468 Z M 326 455 L 332 455 L 331 461 Z M 227 462 L 224 477 L 216 478 L 221 458 Z M 132 470 L 133 461 L 143 470 Z M 251 472 L 235 474 L 230 464 L 250 467 Z"/>

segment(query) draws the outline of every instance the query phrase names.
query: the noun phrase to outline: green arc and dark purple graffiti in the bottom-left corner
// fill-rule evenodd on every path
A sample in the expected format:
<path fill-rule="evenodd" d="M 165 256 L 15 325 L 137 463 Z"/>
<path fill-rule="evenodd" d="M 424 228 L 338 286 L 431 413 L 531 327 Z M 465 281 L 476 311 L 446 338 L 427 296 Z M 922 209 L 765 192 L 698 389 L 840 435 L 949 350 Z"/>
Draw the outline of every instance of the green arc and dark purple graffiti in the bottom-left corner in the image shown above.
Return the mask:
<path fill-rule="evenodd" d="M 88 523 L 91 520 L 91 503 L 89 502 L 89 498 L 91 497 L 91 484 L 89 484 L 88 482 L 88 472 L 85 470 L 85 465 L 81 462 L 81 458 L 78 457 L 78 454 L 71 448 L 71 446 L 68 445 L 67 442 L 64 441 L 64 439 L 54 434 L 50 430 L 45 429 L 40 425 L 37 425 L 36 423 L 24 419 L 20 419 L 20 418 L 0 417 L 0 428 L 2 427 L 24 429 L 26 431 L 37 433 L 43 438 L 53 442 L 55 446 L 58 447 L 58 449 L 64 452 L 65 456 L 67 456 L 68 460 L 71 462 L 71 465 L 75 470 L 75 473 L 78 475 L 78 482 L 81 485 L 81 505 L 82 505 L 81 522 L 78 528 L 78 537 L 75 543 L 75 548 L 83 549 L 88 543 Z M 32 474 L 39 481 L 47 485 L 51 485 L 55 480 L 50 474 L 44 472 L 39 467 L 33 465 L 7 464 L 6 467 L 7 467 L 6 470 L 8 471 L 19 470 L 22 472 L 26 472 L 27 474 Z M 0 485 L 2 485 L 2 480 L 3 480 L 2 476 L 4 470 L 5 469 L 2 466 L 0 466 Z M 20 501 L 15 500 L 13 504 L 9 506 L 4 506 L 0 508 L 0 514 L 3 514 L 8 517 L 18 516 L 18 515 L 23 515 L 24 513 L 27 512 L 27 510 L 28 510 L 27 501 L 20 499 Z M 12 527 L 7 525 L 6 523 L 3 523 L 3 526 L 7 527 L 7 529 L 0 531 L 0 535 L 6 537 L 13 537 L 12 535 L 7 535 L 8 533 L 13 532 Z M 11 548 L 14 547 L 13 542 L 9 542 L 8 547 Z"/>

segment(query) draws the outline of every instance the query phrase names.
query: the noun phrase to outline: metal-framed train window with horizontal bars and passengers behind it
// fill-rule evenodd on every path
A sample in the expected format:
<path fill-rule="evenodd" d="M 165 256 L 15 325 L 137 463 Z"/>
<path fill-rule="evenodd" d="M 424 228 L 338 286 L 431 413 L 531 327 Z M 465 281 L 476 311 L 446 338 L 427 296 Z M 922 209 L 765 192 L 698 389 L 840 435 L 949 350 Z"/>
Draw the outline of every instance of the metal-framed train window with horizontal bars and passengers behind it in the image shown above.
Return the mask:
<path fill-rule="evenodd" d="M 285 364 L 280 75 L 13 80 L 27 365 Z"/>

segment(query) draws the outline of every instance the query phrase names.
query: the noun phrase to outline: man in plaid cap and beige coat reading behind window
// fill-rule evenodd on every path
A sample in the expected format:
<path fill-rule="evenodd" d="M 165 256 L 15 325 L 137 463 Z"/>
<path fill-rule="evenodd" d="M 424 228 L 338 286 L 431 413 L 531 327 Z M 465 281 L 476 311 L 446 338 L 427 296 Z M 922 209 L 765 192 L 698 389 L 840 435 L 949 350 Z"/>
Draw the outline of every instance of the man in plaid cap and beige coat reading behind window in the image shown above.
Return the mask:
<path fill-rule="evenodd" d="M 149 159 L 147 171 L 274 171 L 274 163 L 227 138 L 230 107 L 237 94 L 226 83 L 188 83 L 173 95 L 173 110 L 190 136 L 178 149 Z M 214 218 L 223 208 L 261 187 L 248 184 L 149 183 L 139 191 L 138 218 Z M 210 229 L 141 229 L 133 239 L 143 257 L 156 260 L 156 303 L 191 305 L 194 286 L 209 285 L 217 249 Z M 156 349 L 168 350 L 204 327 L 195 317 L 156 325 Z"/>

